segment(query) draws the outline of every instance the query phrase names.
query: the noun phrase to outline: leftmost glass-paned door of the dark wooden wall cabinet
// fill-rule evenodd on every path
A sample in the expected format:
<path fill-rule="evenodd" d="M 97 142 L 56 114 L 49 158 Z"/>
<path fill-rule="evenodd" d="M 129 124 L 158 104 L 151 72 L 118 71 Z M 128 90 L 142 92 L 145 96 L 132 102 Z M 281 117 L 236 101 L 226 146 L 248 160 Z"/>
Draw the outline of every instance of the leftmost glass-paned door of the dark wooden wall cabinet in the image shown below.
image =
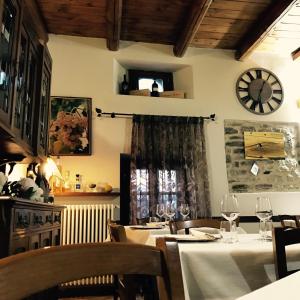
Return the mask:
<path fill-rule="evenodd" d="M 2 3 L 2 1 L 1 1 Z M 0 121 L 10 128 L 20 7 L 15 0 L 4 0 L 0 36 Z"/>

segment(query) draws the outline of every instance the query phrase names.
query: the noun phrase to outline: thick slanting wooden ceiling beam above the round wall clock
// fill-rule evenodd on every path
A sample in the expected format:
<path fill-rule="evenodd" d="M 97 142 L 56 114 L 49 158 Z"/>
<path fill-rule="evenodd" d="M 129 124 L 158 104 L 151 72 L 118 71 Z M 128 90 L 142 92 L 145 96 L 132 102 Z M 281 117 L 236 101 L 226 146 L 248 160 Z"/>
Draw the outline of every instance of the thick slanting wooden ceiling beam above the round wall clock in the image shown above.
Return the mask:
<path fill-rule="evenodd" d="M 275 27 L 277 22 L 291 9 L 298 0 L 276 1 L 265 13 L 255 22 L 254 26 L 243 36 L 240 45 L 235 53 L 237 60 L 245 59 Z"/>

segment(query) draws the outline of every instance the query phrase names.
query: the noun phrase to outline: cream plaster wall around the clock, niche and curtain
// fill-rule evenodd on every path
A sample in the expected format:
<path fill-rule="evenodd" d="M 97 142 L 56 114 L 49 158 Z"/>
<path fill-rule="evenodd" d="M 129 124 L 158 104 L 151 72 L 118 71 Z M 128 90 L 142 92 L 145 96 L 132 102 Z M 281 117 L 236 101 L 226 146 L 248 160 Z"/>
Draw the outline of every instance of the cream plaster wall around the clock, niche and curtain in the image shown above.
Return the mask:
<path fill-rule="evenodd" d="M 217 121 L 208 122 L 207 154 L 213 214 L 219 214 L 219 200 L 227 191 L 224 119 L 299 122 L 300 61 L 255 53 L 245 62 L 234 59 L 232 51 L 189 48 L 184 58 L 176 58 L 172 47 L 122 42 L 111 52 L 103 39 L 50 35 L 53 59 L 53 96 L 85 96 L 93 108 L 140 114 L 206 116 L 216 113 Z M 194 99 L 151 99 L 115 94 L 115 59 L 151 64 L 183 64 L 193 68 Z M 251 67 L 264 67 L 281 79 L 285 99 L 281 108 L 267 116 L 245 110 L 235 95 L 239 75 Z M 88 182 L 105 181 L 119 187 L 119 154 L 130 151 L 131 122 L 124 119 L 98 119 L 92 122 L 92 156 L 62 157 L 65 170 L 83 174 Z M 299 191 L 300 192 L 300 191 Z M 271 193 L 274 213 L 300 214 L 300 193 Z M 254 213 L 254 194 L 239 194 L 241 212 Z"/>

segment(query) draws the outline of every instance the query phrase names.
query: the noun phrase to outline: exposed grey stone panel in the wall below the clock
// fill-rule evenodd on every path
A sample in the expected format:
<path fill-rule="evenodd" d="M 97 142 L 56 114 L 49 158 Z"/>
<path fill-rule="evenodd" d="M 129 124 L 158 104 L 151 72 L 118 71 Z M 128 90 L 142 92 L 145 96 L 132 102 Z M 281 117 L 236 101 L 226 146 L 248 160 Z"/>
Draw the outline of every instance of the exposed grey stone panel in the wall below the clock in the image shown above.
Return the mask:
<path fill-rule="evenodd" d="M 281 132 L 285 159 L 246 160 L 244 132 Z M 229 191 L 234 193 L 300 191 L 299 128 L 297 123 L 224 121 Z M 257 176 L 251 173 L 254 162 Z"/>

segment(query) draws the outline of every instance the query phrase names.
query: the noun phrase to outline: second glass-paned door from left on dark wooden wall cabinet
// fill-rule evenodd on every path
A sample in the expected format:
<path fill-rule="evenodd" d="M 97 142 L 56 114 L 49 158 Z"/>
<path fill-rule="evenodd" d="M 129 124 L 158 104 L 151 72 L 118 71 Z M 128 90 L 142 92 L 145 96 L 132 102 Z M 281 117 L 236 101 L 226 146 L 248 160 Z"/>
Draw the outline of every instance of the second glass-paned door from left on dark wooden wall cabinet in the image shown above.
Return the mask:
<path fill-rule="evenodd" d="M 16 78 L 16 95 L 15 95 L 15 109 L 14 109 L 14 121 L 13 131 L 19 137 L 22 138 L 22 131 L 24 125 L 24 111 L 27 96 L 27 65 L 28 65 L 28 49 L 29 49 L 29 38 L 22 27 L 19 50 L 18 50 L 18 70 Z"/>

